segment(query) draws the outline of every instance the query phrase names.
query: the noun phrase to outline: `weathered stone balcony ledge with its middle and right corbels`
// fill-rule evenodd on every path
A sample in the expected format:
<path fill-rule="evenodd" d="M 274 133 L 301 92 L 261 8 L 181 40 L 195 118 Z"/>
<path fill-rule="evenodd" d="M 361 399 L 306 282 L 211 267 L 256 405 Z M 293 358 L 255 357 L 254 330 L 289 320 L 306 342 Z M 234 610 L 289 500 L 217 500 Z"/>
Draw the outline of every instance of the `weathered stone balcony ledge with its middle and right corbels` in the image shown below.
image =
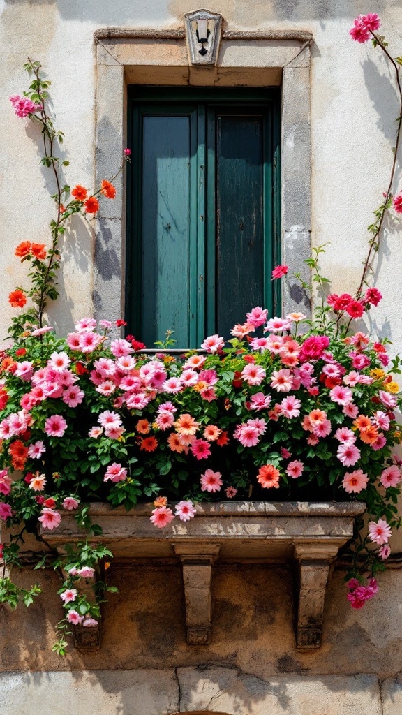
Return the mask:
<path fill-rule="evenodd" d="M 185 588 L 187 642 L 210 642 L 211 578 L 215 561 L 291 561 L 298 584 L 296 646 L 320 647 L 325 589 L 330 565 L 353 536 L 353 520 L 365 511 L 362 503 L 235 502 L 197 505 L 189 522 L 175 519 L 164 529 L 149 521 L 152 506 L 128 513 L 107 504 L 92 504 L 93 523 L 102 526 L 102 541 L 116 559 L 177 559 Z M 46 540 L 62 551 L 63 544 L 85 536 L 71 512 Z"/>

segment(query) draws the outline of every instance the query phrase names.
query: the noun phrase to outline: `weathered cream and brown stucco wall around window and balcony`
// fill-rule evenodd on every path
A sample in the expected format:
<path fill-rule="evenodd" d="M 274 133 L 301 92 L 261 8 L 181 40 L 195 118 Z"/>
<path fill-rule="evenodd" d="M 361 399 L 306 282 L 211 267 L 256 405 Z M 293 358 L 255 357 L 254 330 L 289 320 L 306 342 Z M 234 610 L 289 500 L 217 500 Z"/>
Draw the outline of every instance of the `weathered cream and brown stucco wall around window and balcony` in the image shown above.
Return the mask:
<path fill-rule="evenodd" d="M 388 180 L 398 106 L 383 57 L 370 46 L 353 43 L 348 29 L 357 14 L 377 11 L 395 54 L 402 54 L 400 1 L 377 0 L 370 4 L 350 0 L 211 0 L 207 6 L 223 15 L 229 29 L 288 28 L 313 32 L 310 70 L 312 241 L 314 245 L 326 244 L 323 272 L 331 278 L 333 290 L 353 292 L 367 246 L 365 227 L 371 222 L 371 212 L 380 202 Z M 65 147 L 71 162 L 65 170 L 67 182 L 91 186 L 97 112 L 94 31 L 107 26 L 175 28 L 182 26 L 182 14 L 193 9 L 194 4 L 185 0 L 170 3 L 166 0 L 147 3 L 144 0 L 114 3 L 0 0 L 1 335 L 5 334 L 13 315 L 6 296 L 24 280 L 24 270 L 14 257 L 14 249 L 22 240 L 46 242 L 46 227 L 52 218 L 48 189 L 52 193 L 53 187 L 46 170 L 39 167 L 37 134 L 27 120 L 14 117 L 8 99 L 26 87 L 22 69 L 26 57 L 39 59 L 52 79 L 57 125 L 66 135 Z M 115 165 L 118 164 L 119 157 L 115 157 Z M 400 179 L 394 189 L 401 186 Z M 387 222 L 386 237 L 378 256 L 381 271 L 377 278 L 384 300 L 373 312 L 373 330 L 392 340 L 395 350 L 401 350 L 402 345 L 400 241 L 400 227 Z M 51 309 L 52 321 L 59 330 L 70 329 L 79 317 L 92 313 L 93 250 L 91 222 L 74 220 L 62 247 L 61 299 Z M 366 329 L 368 322 L 361 322 L 359 327 Z M 325 692 L 329 691 L 330 696 L 320 696 L 325 700 L 326 713 L 338 714 L 347 709 L 351 712 L 353 702 L 358 702 L 356 712 L 396 714 L 401 703 L 396 681 L 402 669 L 401 572 L 392 570 L 382 576 L 381 593 L 363 611 L 351 611 L 348 607 L 343 575 L 342 571 L 335 571 L 330 581 L 322 649 L 298 654 L 291 623 L 291 578 L 286 566 L 218 566 L 214 579 L 212 644 L 202 648 L 185 644 L 178 568 L 113 566 L 112 578 L 121 593 L 119 597 L 112 597 L 105 608 L 104 646 L 97 654 L 79 655 L 70 651 L 62 662 L 51 654 L 53 625 L 61 617 L 56 596 L 54 600 L 36 602 L 26 613 L 3 611 L 0 614 L 0 669 L 7 674 L 0 687 L 9 698 L 4 701 L 8 703 L 7 709 L 1 710 L 0 705 L 0 712 L 23 713 L 18 699 L 21 682 L 11 675 L 11 671 L 20 669 L 112 669 L 117 672 L 114 680 L 111 675 L 112 680 L 106 683 L 104 676 L 97 680 L 95 674 L 85 681 L 96 685 L 94 702 L 100 704 L 102 700 L 96 700 L 98 686 L 103 694 L 111 689 L 114 696 L 105 713 L 141 712 L 144 715 L 148 711 L 141 709 L 132 696 L 124 699 L 121 695 L 127 682 L 121 680 L 122 674 L 118 671 L 167 669 L 165 677 L 170 682 L 177 668 L 219 666 L 234 669 L 230 672 L 237 674 L 251 674 L 257 679 L 247 686 L 251 691 L 255 690 L 255 683 L 261 681 L 265 685 L 272 683 L 273 692 L 277 694 L 290 688 L 290 681 L 298 684 L 298 679 L 310 695 L 317 688 L 322 686 L 325 690 L 328 686 Z M 27 570 L 20 577 L 31 583 L 32 573 Z M 46 572 L 39 573 L 39 578 L 49 582 L 54 576 Z M 356 674 L 369 678 L 358 681 L 353 691 Z M 149 677 L 155 682 L 155 674 Z M 339 680 L 325 681 L 334 677 Z M 135 683 L 134 676 L 132 678 L 130 682 Z M 391 680 L 386 680 L 381 691 L 380 681 L 384 679 Z M 54 693 L 68 697 L 73 692 L 72 681 L 67 679 L 64 685 L 57 682 L 44 676 L 25 679 L 22 685 L 26 687 L 24 692 L 28 698 L 30 693 L 39 693 L 39 709 L 40 694 L 46 689 L 49 693 L 49 684 Z M 198 685 L 191 682 L 196 692 Z M 175 691 L 175 697 L 169 702 L 157 701 L 155 696 L 149 713 L 209 709 L 237 715 L 265 713 L 268 706 L 275 713 L 323 712 L 323 709 L 312 709 L 311 697 L 303 695 L 303 687 L 298 691 L 301 694 L 294 706 L 291 701 L 286 706 L 286 701 L 280 701 L 279 696 L 275 702 L 259 701 L 255 696 L 254 701 L 243 699 L 240 704 L 236 701 L 236 705 L 232 700 L 230 704 L 226 702 L 226 706 L 219 698 L 211 706 L 210 701 L 204 703 L 194 696 L 180 704 Z M 225 690 L 225 686 L 222 688 Z M 355 700 L 338 696 L 345 691 L 354 692 Z M 106 701 L 102 702 L 106 707 Z M 52 715 L 64 712 L 62 699 L 52 708 L 48 710 Z M 46 712 L 42 706 L 40 709 L 43 714 Z"/>

